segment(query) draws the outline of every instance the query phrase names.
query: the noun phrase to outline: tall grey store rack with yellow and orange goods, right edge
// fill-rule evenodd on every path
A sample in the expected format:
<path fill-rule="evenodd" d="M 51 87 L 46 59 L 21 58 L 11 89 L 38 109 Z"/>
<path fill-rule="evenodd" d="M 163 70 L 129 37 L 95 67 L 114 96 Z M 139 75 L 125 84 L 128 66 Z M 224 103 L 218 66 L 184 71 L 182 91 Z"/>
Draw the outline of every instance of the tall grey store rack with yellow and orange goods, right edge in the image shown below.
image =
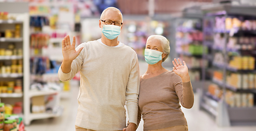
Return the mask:
<path fill-rule="evenodd" d="M 205 13 L 203 45 L 209 49 L 204 61 L 210 63 L 210 68 L 203 68 L 203 76 L 210 75 L 211 81 L 204 81 L 200 90 L 200 109 L 209 112 L 218 126 L 255 125 L 255 43 L 245 45 L 240 40 L 256 38 L 256 25 L 255 29 L 243 25 L 256 20 L 256 7 L 228 3 L 201 9 Z"/>

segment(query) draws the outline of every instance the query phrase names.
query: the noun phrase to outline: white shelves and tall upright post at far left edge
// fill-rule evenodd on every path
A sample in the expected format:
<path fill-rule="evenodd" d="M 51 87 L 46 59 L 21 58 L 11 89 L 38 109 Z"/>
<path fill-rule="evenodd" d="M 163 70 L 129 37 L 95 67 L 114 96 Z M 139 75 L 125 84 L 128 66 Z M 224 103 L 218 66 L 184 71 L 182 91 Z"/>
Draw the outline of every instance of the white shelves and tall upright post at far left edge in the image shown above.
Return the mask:
<path fill-rule="evenodd" d="M 16 79 L 22 80 L 22 93 L 1 93 L 1 101 L 7 104 L 13 104 L 13 102 L 23 102 L 23 114 L 19 114 L 27 118 L 27 112 L 30 111 L 30 100 L 27 99 L 28 96 L 28 87 L 30 85 L 30 62 L 29 62 L 29 14 L 28 14 L 28 3 L 1 3 L 0 11 L 6 11 L 10 16 L 13 16 L 14 19 L 9 20 L 0 20 L 1 32 L 5 29 L 15 29 L 15 25 L 20 25 L 20 38 L 5 38 L 3 36 L 0 38 L 0 46 L 4 49 L 8 49 L 8 44 L 14 44 L 16 48 L 22 50 L 22 55 L 4 55 L 0 57 L 0 61 L 10 63 L 12 60 L 22 59 L 22 73 L 11 73 L 11 74 L 1 74 L 1 81 L 14 81 Z M 17 8 L 18 7 L 18 8 Z M 14 10 L 15 9 L 15 10 Z M 18 31 L 17 31 L 18 32 Z M 15 50 L 15 49 L 14 49 Z M 13 51 L 14 54 L 15 51 Z M 9 62 L 8 62 L 9 61 Z M 12 71 L 13 72 L 13 71 Z"/>

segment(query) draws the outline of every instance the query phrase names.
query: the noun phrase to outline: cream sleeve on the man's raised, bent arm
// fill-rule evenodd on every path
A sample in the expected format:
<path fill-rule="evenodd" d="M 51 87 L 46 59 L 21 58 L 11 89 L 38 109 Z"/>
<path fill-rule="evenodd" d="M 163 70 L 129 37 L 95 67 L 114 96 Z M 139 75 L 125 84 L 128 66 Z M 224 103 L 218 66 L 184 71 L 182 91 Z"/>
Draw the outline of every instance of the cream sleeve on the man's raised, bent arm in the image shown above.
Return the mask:
<path fill-rule="evenodd" d="M 83 44 L 80 44 L 77 46 L 75 50 L 80 49 L 80 47 L 83 47 Z M 71 71 L 69 73 L 63 73 L 61 67 L 59 68 L 58 76 L 61 81 L 68 81 L 74 78 L 75 74 L 79 72 L 79 70 L 82 68 L 83 64 L 83 54 L 84 54 L 84 49 L 79 53 L 78 57 L 75 58 L 72 61 L 71 64 Z"/>

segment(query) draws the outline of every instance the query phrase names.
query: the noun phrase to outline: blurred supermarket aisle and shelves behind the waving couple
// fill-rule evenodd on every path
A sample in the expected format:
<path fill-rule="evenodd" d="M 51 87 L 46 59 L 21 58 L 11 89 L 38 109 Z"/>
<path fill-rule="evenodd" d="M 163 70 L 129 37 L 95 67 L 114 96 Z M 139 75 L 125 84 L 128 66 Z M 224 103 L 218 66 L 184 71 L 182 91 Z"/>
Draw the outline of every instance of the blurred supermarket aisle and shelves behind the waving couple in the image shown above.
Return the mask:
<path fill-rule="evenodd" d="M 123 13 L 118 39 L 136 51 L 140 75 L 152 34 L 170 41 L 166 69 L 174 58 L 187 63 L 189 130 L 256 130 L 255 0 L 0 0 L 0 130 L 8 122 L 20 131 L 75 130 L 79 73 L 58 79 L 61 40 L 100 39 L 108 7 Z"/>

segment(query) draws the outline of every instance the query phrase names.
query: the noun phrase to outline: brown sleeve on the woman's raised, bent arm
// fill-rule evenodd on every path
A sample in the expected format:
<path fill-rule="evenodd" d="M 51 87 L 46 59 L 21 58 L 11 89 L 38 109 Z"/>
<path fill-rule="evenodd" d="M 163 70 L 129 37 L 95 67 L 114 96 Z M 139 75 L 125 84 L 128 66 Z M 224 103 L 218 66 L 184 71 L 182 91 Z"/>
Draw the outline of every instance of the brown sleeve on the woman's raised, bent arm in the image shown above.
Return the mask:
<path fill-rule="evenodd" d="M 182 82 L 182 79 L 176 75 L 174 79 L 174 89 L 179 98 L 179 102 L 184 108 L 190 109 L 194 105 L 194 92 L 191 82 Z"/>

